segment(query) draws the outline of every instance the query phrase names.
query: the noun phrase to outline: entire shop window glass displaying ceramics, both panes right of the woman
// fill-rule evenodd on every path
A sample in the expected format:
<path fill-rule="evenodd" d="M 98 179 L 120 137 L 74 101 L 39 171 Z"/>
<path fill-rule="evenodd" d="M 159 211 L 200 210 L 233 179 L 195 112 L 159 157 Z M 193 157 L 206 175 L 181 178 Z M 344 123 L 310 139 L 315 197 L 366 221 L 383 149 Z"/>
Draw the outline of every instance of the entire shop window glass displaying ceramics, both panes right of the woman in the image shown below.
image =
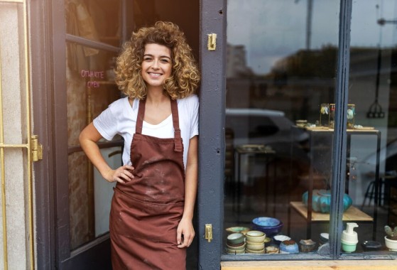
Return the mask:
<path fill-rule="evenodd" d="M 341 243 L 339 255 L 390 249 L 384 226 L 397 222 L 396 3 L 353 3 L 346 171 L 333 178 L 339 5 L 228 1 L 225 256 L 331 256 L 331 214 L 342 215 L 344 232 L 332 239 Z M 332 179 L 345 183 L 340 213 L 330 213 Z"/>

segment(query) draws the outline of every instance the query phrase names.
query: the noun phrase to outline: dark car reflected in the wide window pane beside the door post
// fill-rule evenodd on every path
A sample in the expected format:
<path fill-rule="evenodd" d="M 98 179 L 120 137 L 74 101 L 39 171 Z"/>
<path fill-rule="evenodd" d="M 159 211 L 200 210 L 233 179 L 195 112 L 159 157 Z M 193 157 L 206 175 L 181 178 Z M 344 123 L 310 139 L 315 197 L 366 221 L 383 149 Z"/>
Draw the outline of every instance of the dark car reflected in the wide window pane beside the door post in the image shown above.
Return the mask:
<path fill-rule="evenodd" d="M 244 144 L 261 144 L 270 146 L 275 151 L 271 163 L 276 166 L 276 173 L 271 181 L 275 183 L 276 192 L 280 194 L 294 190 L 300 183 L 298 175 L 305 175 L 310 164 L 305 150 L 309 134 L 305 129 L 293 126 L 293 121 L 281 111 L 226 109 L 227 140 L 233 141 L 234 148 Z M 227 145 L 230 144 L 229 141 Z M 263 170 L 263 160 L 257 157 L 254 164 L 251 164 L 251 174 L 261 171 L 261 168 Z"/>

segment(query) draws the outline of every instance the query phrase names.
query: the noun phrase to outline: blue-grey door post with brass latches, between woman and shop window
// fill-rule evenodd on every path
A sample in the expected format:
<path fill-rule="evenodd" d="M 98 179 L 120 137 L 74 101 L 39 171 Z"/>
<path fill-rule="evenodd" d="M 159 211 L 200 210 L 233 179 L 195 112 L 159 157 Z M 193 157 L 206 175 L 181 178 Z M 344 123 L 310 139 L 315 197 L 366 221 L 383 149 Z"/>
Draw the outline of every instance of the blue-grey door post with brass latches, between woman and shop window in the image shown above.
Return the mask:
<path fill-rule="evenodd" d="M 226 0 L 200 1 L 199 269 L 220 269 L 222 254 L 226 15 Z M 215 50 L 207 48 L 210 33 L 217 34 Z M 212 225 L 211 242 L 204 237 L 206 224 Z"/>

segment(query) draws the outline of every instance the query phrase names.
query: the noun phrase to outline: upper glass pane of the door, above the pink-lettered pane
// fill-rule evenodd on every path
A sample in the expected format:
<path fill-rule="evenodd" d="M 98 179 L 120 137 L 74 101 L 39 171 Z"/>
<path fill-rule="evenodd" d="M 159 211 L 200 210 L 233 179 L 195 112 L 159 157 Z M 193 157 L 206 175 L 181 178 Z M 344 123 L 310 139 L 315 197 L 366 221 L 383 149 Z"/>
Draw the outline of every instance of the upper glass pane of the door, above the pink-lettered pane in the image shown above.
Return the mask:
<path fill-rule="evenodd" d="M 66 33 L 119 46 L 121 1 L 65 0 Z"/>

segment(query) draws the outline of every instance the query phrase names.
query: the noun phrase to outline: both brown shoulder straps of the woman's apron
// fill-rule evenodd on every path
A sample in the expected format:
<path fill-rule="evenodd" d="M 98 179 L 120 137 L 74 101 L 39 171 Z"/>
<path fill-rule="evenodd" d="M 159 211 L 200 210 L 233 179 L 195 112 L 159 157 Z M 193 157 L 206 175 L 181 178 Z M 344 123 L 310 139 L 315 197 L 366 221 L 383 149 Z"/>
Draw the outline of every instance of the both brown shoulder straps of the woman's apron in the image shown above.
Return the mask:
<path fill-rule="evenodd" d="M 146 99 L 139 100 L 138 117 L 136 119 L 136 130 L 135 130 L 137 134 L 142 134 L 143 117 L 145 115 L 145 105 L 146 105 Z M 173 115 L 173 126 L 174 126 L 174 140 L 175 140 L 174 151 L 181 152 L 183 147 L 182 147 L 182 140 L 180 137 L 178 103 L 176 100 L 173 99 L 171 99 L 171 114 Z"/>

